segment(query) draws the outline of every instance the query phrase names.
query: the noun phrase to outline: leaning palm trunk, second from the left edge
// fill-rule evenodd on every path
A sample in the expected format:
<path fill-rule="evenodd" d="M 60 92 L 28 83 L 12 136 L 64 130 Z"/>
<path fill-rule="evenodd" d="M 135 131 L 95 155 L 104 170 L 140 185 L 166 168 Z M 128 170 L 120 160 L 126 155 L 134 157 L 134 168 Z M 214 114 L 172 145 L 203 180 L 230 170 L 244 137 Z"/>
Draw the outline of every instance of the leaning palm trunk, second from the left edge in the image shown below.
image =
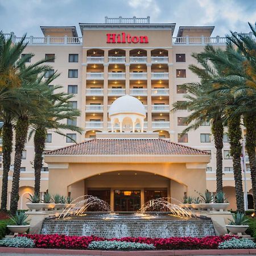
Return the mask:
<path fill-rule="evenodd" d="M 15 214 L 18 209 L 19 201 L 19 177 L 20 164 L 22 162 L 22 151 L 27 138 L 28 117 L 19 117 L 15 127 L 15 156 L 14 156 L 14 171 L 13 184 L 11 187 L 11 214 Z"/>

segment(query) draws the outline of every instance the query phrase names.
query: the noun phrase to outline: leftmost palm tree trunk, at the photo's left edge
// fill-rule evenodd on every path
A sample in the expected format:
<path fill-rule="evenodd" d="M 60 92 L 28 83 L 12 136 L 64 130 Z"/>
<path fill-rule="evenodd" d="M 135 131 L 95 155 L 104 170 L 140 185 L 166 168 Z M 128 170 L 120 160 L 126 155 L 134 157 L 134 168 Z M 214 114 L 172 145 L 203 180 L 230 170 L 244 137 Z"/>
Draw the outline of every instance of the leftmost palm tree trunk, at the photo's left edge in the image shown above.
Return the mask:
<path fill-rule="evenodd" d="M 2 178 L 2 195 L 1 195 L 1 211 L 7 210 L 7 189 L 8 176 L 11 165 L 11 152 L 13 151 L 13 125 L 11 123 L 3 123 L 2 127 L 2 151 L 3 151 L 3 178 Z"/>

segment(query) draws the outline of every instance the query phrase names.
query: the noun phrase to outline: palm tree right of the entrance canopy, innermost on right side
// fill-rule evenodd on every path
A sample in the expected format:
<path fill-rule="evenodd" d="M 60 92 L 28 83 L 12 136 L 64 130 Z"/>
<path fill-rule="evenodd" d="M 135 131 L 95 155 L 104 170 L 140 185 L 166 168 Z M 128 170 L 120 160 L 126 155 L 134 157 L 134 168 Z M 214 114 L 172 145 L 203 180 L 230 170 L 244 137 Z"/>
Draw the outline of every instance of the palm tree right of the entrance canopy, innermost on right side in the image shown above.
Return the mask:
<path fill-rule="evenodd" d="M 187 94 L 184 96 L 187 101 L 177 101 L 173 104 L 173 110 L 186 108 L 191 114 L 186 118 L 189 125 L 183 134 L 189 130 L 198 129 L 204 122 L 211 122 L 212 134 L 216 148 L 216 191 L 222 191 L 222 148 L 224 133 L 224 108 L 218 104 L 215 96 L 211 97 L 209 92 L 212 90 L 210 81 L 218 76 L 220 69 L 210 67 L 207 60 L 200 54 L 193 53 L 192 56 L 197 60 L 201 67 L 189 65 L 189 69 L 200 77 L 200 82 L 184 84 Z"/>

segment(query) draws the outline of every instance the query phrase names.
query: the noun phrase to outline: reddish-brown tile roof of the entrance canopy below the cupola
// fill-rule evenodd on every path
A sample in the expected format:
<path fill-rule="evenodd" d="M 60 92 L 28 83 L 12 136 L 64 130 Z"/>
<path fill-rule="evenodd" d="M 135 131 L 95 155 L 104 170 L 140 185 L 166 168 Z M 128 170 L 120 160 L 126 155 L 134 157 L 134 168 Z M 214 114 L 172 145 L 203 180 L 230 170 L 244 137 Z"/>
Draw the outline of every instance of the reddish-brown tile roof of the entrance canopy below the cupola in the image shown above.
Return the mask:
<path fill-rule="evenodd" d="M 164 139 L 92 139 L 45 155 L 208 155 Z"/>

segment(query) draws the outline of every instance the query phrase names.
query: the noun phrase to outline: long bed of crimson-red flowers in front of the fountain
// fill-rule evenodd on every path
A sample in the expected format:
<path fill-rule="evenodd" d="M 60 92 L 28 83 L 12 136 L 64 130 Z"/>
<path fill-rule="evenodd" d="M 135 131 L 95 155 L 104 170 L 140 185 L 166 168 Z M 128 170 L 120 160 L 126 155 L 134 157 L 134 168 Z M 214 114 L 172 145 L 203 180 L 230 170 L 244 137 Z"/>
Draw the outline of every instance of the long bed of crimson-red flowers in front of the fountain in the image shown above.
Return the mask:
<path fill-rule="evenodd" d="M 23 234 L 34 240 L 37 248 L 59 248 L 59 249 L 88 249 L 93 241 L 121 241 L 146 243 L 153 245 L 158 250 L 197 250 L 197 249 L 218 249 L 218 245 L 232 239 L 234 236 L 209 236 L 203 238 L 195 237 L 170 237 L 170 238 L 147 238 L 147 237 L 123 237 L 106 239 L 102 237 L 87 236 L 65 236 L 59 234 Z"/>

